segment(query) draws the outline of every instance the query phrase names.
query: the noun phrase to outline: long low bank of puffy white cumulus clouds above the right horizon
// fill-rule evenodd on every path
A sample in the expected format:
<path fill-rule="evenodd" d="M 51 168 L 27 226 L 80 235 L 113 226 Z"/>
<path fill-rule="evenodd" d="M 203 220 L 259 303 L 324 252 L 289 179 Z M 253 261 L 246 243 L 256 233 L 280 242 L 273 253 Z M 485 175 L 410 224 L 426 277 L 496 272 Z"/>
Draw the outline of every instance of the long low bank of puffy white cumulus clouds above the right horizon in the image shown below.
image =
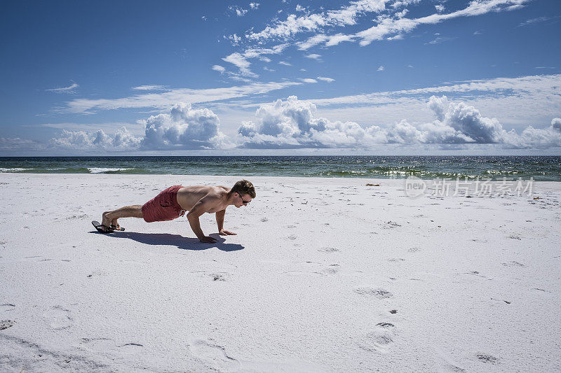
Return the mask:
<path fill-rule="evenodd" d="M 555 118 L 546 129 L 527 127 L 522 134 L 506 132 L 494 118 L 481 115 L 464 102 L 446 96 L 431 97 L 428 108 L 435 120 L 412 125 L 401 120 L 389 127 L 360 126 L 356 122 L 316 118 L 310 101 L 288 97 L 260 106 L 256 120 L 238 128 L 242 148 L 373 148 L 381 144 L 499 144 L 504 148 L 550 148 L 561 146 L 561 119 Z"/>

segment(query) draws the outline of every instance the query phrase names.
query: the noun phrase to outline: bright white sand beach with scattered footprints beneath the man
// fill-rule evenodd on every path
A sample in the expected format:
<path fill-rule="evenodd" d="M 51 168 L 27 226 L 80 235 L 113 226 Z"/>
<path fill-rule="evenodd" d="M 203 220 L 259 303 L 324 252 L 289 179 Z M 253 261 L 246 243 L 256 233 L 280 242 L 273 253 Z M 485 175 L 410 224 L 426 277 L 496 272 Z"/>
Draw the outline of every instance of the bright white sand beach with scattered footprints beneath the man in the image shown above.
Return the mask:
<path fill-rule="evenodd" d="M 219 244 L 185 218 L 90 224 L 240 178 L 1 174 L 0 371 L 561 371 L 561 183 L 411 199 L 403 180 L 250 177 Z"/>

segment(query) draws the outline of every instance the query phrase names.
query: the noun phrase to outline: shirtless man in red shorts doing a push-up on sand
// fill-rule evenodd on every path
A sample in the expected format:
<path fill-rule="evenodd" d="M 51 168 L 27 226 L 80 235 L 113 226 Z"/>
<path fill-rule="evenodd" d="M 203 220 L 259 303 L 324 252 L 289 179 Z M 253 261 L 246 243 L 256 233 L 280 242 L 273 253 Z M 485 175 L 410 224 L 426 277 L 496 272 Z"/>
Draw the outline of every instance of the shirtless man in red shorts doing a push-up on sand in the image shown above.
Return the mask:
<path fill-rule="evenodd" d="M 201 242 L 213 244 L 216 239 L 205 236 L 201 230 L 198 217 L 203 213 L 216 213 L 218 232 L 222 236 L 236 234 L 224 230 L 224 214 L 230 205 L 247 206 L 255 198 L 255 188 L 250 181 L 241 180 L 234 184 L 234 188 L 225 186 L 192 185 L 182 187 L 174 185 L 163 190 L 159 195 L 143 204 L 121 207 L 114 211 L 106 211 L 102 215 L 102 223 L 93 221 L 92 224 L 100 233 L 111 233 L 125 230 L 119 226 L 119 218 L 144 218 L 147 223 L 154 221 L 173 220 L 183 216 L 186 211 L 191 229 Z"/>

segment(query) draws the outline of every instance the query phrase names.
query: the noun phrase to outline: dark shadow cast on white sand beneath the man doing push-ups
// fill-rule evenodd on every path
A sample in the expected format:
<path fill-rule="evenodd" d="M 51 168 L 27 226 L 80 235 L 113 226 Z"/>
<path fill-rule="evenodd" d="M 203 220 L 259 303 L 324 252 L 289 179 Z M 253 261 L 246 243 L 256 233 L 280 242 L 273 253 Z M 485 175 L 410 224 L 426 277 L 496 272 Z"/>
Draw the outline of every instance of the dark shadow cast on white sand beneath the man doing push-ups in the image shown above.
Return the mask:
<path fill-rule="evenodd" d="M 97 233 L 95 231 L 90 233 Z M 99 234 L 99 233 L 97 233 Z M 109 234 L 111 237 L 120 239 L 132 239 L 147 245 L 163 245 L 163 246 L 177 246 L 182 250 L 207 250 L 208 248 L 218 248 L 222 251 L 238 251 L 243 250 L 245 247 L 239 244 L 224 244 L 225 239 L 220 237 L 219 234 L 209 234 L 210 237 L 216 239 L 214 244 L 205 244 L 198 239 L 187 238 L 179 234 L 169 233 L 139 233 L 139 232 L 113 232 Z"/>

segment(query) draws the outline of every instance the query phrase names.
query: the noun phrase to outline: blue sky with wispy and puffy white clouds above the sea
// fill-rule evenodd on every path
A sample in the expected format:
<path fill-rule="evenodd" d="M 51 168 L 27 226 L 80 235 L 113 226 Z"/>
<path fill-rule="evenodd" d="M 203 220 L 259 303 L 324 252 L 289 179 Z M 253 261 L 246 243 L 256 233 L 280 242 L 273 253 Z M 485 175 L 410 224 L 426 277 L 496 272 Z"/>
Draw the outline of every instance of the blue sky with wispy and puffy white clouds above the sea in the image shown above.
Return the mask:
<path fill-rule="evenodd" d="M 555 0 L 0 15 L 0 155 L 561 154 Z"/>

